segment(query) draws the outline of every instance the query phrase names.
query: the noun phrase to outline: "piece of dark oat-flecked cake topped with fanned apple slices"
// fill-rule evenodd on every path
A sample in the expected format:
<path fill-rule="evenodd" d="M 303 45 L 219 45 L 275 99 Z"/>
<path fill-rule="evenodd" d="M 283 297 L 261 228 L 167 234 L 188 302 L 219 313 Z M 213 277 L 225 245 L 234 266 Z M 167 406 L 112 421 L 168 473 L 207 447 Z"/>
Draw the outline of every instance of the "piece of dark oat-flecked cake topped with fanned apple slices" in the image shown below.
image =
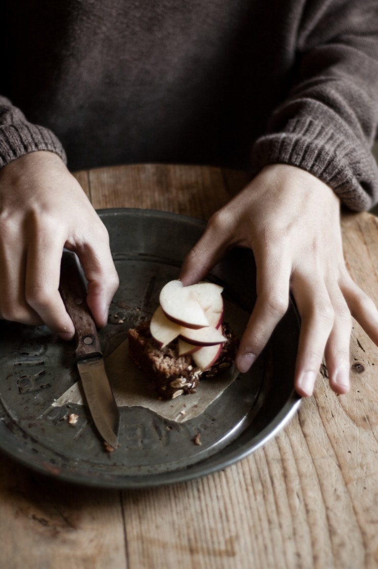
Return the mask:
<path fill-rule="evenodd" d="M 211 378 L 235 359 L 238 340 L 222 323 L 222 287 L 171 281 L 160 293 L 151 320 L 131 328 L 132 360 L 162 399 L 194 393 L 200 378 Z"/>

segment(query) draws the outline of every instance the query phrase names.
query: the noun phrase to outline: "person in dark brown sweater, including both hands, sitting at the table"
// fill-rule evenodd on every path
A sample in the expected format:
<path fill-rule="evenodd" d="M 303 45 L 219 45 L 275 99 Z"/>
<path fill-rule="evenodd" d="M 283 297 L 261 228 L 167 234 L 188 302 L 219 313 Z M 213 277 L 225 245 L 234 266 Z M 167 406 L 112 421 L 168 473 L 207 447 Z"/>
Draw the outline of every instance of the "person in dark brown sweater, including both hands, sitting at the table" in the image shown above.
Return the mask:
<path fill-rule="evenodd" d="M 235 245 L 254 252 L 257 300 L 236 357 L 245 372 L 288 306 L 301 316 L 294 385 L 325 357 L 349 389 L 351 317 L 378 344 L 378 312 L 343 259 L 340 207 L 378 197 L 376 0 L 3 2 L 0 39 L 0 316 L 65 339 L 64 247 L 106 324 L 118 286 L 109 240 L 70 170 L 217 164 L 252 181 L 211 217 L 184 284 Z M 67 156 L 67 158 L 66 158 Z"/>

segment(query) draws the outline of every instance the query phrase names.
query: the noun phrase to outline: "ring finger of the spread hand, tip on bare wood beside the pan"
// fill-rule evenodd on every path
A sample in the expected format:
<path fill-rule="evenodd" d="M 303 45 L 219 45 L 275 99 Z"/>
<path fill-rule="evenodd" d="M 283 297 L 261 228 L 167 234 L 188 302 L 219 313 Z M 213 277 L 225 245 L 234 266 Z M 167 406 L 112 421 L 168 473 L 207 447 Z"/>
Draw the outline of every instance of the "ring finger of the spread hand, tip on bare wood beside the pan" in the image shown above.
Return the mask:
<path fill-rule="evenodd" d="M 344 394 L 350 389 L 350 336 L 352 318 L 344 297 L 337 287 L 330 294 L 335 317 L 334 325 L 325 348 L 325 361 L 330 387 L 335 393 Z"/>

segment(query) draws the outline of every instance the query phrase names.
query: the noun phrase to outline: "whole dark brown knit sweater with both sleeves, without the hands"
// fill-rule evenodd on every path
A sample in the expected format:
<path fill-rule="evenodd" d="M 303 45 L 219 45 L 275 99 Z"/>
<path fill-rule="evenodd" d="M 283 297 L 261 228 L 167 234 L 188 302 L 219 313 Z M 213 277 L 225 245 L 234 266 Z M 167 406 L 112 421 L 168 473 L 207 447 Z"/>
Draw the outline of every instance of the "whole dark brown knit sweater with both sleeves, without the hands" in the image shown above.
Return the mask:
<path fill-rule="evenodd" d="M 377 0 L 2 5 L 0 167 L 280 162 L 377 201 Z"/>

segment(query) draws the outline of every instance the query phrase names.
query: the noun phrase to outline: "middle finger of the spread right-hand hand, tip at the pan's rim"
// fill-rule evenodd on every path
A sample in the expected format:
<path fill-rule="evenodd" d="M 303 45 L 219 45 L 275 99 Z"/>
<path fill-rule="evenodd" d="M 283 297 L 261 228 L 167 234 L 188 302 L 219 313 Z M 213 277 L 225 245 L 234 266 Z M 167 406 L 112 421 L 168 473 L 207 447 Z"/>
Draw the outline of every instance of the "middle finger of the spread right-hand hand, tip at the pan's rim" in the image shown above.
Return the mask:
<path fill-rule="evenodd" d="M 334 310 L 325 283 L 301 276 L 293 279 L 293 295 L 301 316 L 294 387 L 298 394 L 312 395 L 327 340 L 334 324 Z"/>

